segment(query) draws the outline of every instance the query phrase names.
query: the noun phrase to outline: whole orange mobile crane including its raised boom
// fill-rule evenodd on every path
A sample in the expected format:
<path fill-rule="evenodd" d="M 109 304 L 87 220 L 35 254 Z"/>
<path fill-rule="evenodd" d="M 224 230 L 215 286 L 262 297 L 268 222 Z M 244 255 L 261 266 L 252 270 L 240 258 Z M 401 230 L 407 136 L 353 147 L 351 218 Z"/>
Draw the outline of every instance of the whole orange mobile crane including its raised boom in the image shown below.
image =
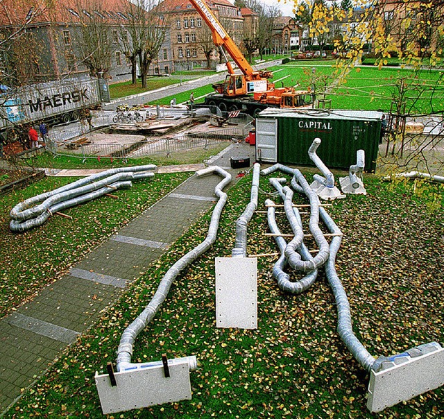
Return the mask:
<path fill-rule="evenodd" d="M 253 70 L 207 3 L 204 0 L 189 1 L 212 31 L 213 42 L 225 57 L 228 69 L 225 81 L 213 85 L 217 94 L 207 97 L 205 103 L 218 105 L 221 110 L 244 109 L 253 114 L 268 106 L 300 108 L 312 103 L 313 95 L 309 90 L 296 91 L 293 87 L 276 88 L 274 83 L 268 82 L 268 78 L 273 77 L 272 71 Z M 234 73 L 223 49 L 230 54 L 242 74 Z M 253 94 L 253 98 L 250 94 Z"/>

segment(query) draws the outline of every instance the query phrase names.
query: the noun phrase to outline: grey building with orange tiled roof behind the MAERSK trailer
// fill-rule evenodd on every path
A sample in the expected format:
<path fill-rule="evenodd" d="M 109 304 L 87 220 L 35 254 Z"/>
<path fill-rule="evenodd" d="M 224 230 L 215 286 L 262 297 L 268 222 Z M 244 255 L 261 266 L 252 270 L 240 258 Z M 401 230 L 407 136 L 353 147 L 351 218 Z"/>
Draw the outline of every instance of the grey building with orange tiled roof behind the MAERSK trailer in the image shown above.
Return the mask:
<path fill-rule="evenodd" d="M 3 43 L 3 48 L 0 46 L 2 83 L 33 83 L 88 74 L 90 69 L 81 59 L 79 44 L 84 42 L 80 32 L 85 27 L 91 33 L 105 28 L 107 35 L 101 52 L 108 65 L 105 65 L 104 76 L 114 81 L 131 78 L 130 62 L 121 38 L 123 28 L 131 22 L 132 3 L 127 0 L 58 0 L 50 4 L 43 0 L 2 1 L 0 33 L 5 37 L 17 32 L 11 42 Z M 153 73 L 168 73 L 172 67 L 167 35 L 151 69 Z"/>

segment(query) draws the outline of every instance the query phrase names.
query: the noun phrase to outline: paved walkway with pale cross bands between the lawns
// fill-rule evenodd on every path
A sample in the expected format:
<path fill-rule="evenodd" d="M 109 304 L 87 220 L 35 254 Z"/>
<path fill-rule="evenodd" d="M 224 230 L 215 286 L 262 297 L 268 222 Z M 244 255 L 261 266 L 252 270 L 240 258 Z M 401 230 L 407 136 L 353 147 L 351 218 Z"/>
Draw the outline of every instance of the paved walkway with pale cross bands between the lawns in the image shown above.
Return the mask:
<path fill-rule="evenodd" d="M 229 169 L 230 157 L 244 156 L 253 164 L 254 147 L 232 144 L 211 164 Z M 240 170 L 230 169 L 232 184 Z M 0 412 L 11 407 L 21 389 L 32 386 L 60 350 L 94 325 L 105 307 L 210 210 L 220 181 L 216 175 L 191 176 L 72 266 L 69 275 L 0 320 Z"/>

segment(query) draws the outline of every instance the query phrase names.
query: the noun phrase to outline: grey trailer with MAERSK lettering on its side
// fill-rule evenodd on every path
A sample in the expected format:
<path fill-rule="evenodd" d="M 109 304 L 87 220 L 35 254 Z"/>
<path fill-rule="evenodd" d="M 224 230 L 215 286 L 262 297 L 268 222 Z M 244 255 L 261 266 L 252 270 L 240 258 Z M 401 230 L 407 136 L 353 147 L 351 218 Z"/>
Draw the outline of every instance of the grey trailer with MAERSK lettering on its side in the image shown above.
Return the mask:
<path fill-rule="evenodd" d="M 101 105 L 98 79 L 67 78 L 6 89 L 0 94 L 0 133 L 15 141 L 29 124 L 82 119 L 85 110 Z"/>

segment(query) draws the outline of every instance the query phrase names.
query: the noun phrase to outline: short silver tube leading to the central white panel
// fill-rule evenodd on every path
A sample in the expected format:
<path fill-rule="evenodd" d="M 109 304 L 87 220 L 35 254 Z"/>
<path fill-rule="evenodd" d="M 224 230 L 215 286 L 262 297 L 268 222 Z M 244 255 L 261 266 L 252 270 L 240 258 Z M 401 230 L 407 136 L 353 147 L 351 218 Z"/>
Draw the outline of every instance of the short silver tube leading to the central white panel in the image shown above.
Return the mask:
<path fill-rule="evenodd" d="M 248 203 L 246 209 L 236 221 L 236 243 L 232 249 L 232 257 L 247 256 L 247 228 L 251 217 L 253 217 L 253 214 L 257 209 L 260 170 L 261 165 L 259 163 L 255 163 L 253 166 L 253 181 L 251 183 L 250 203 Z"/>

